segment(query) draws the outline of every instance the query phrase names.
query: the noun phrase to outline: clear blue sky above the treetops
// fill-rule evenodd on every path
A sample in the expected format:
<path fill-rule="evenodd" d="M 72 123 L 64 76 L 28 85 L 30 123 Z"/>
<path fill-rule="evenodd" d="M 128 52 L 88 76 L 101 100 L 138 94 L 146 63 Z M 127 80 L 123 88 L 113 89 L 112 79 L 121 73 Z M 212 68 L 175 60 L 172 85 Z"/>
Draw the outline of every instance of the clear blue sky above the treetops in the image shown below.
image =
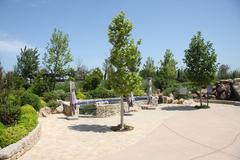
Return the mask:
<path fill-rule="evenodd" d="M 159 66 L 166 49 L 182 59 L 192 36 L 201 31 L 214 44 L 218 62 L 240 68 L 240 2 L 238 0 L 0 0 L 0 61 L 13 69 L 20 48 L 37 47 L 41 56 L 54 28 L 67 33 L 74 56 L 89 69 L 101 67 L 111 45 L 107 30 L 120 11 L 141 38 L 142 63 L 148 56 Z"/>

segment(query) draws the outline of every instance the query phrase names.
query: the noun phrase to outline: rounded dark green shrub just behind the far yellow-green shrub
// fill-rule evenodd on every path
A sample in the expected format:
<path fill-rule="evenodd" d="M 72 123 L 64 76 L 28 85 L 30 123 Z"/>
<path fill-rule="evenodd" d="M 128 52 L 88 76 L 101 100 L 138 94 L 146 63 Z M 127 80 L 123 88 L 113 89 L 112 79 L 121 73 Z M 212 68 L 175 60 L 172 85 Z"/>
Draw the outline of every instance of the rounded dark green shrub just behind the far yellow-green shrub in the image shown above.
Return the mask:
<path fill-rule="evenodd" d="M 36 111 L 39 111 L 41 106 L 40 98 L 38 97 L 38 95 L 26 91 L 21 96 L 21 105 L 25 104 L 32 105 Z"/>

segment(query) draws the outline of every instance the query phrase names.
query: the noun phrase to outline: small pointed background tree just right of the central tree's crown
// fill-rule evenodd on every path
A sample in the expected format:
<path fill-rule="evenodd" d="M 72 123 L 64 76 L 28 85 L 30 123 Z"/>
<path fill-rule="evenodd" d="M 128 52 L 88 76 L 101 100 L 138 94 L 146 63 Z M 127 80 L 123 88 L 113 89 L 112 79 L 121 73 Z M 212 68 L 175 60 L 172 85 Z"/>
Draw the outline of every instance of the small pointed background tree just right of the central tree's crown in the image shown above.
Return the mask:
<path fill-rule="evenodd" d="M 143 65 L 142 70 L 140 71 L 140 76 L 144 79 L 153 78 L 156 75 L 156 66 L 154 65 L 154 60 L 151 57 L 148 57 L 145 64 Z"/>

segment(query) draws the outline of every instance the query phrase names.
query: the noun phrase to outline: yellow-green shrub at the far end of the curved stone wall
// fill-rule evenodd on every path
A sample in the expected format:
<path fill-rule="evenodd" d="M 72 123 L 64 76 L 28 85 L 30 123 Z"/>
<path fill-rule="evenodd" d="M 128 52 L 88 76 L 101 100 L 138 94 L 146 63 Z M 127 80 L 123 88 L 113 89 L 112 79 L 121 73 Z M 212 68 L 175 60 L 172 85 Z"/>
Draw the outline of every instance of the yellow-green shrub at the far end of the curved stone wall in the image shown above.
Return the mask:
<path fill-rule="evenodd" d="M 18 124 L 23 125 L 28 132 L 36 127 L 38 122 L 37 112 L 31 105 L 21 107 L 21 117 Z"/>

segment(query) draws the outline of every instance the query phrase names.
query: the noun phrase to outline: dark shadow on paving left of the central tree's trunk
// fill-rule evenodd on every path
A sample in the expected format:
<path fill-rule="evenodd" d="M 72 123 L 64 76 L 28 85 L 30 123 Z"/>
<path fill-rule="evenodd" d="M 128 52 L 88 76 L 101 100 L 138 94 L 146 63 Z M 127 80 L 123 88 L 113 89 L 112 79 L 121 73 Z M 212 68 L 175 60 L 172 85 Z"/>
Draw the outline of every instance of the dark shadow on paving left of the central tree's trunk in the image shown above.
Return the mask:
<path fill-rule="evenodd" d="M 111 128 L 106 125 L 97 125 L 97 124 L 80 124 L 68 126 L 69 129 L 80 131 L 80 132 L 97 132 L 97 133 L 106 133 L 112 132 Z"/>

